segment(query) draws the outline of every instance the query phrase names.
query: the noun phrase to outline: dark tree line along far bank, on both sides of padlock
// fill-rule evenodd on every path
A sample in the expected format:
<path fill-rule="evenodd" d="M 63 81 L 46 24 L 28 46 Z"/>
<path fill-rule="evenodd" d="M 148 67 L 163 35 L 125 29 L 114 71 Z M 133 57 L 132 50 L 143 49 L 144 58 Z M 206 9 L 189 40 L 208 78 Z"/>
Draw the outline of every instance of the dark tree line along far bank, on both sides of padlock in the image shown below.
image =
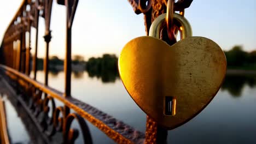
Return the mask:
<path fill-rule="evenodd" d="M 253 69 L 256 70 L 256 50 L 247 52 L 242 46 L 234 46 L 229 51 L 224 51 L 228 69 Z M 52 56 L 49 65 L 54 68 L 56 65 L 63 65 L 63 59 Z M 84 67 L 91 76 L 101 76 L 103 73 L 118 75 L 118 57 L 116 55 L 103 54 L 102 57 L 91 57 L 88 61 L 83 56 L 74 55 L 72 64 Z M 38 69 L 43 69 L 43 58 L 38 58 Z"/>

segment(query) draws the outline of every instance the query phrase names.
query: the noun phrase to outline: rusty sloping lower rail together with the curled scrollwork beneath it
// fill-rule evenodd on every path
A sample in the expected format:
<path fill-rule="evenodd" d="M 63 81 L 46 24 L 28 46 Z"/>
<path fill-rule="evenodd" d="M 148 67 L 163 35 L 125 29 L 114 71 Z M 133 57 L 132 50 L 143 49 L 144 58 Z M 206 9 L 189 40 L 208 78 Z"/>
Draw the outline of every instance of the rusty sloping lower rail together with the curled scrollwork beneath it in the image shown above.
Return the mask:
<path fill-rule="evenodd" d="M 62 133 L 63 141 L 74 142 L 78 136 L 78 131 L 71 129 L 70 125 L 73 119 L 77 119 L 82 130 L 81 134 L 84 142 L 91 143 L 89 128 L 85 123 L 85 118 L 118 143 L 144 142 L 143 133 L 107 115 L 107 113 L 75 98 L 64 98 L 62 97 L 63 93 L 45 87 L 14 69 L 7 68 L 1 64 L 0 69 L 15 75 L 16 80 L 19 80 L 17 83 L 16 80 L 10 79 L 9 83 L 16 83 L 15 85 L 19 86 L 20 91 L 18 95 L 21 96 L 20 98 L 17 97 L 18 100 L 21 101 L 22 106 L 27 107 L 26 110 L 30 113 L 31 118 L 34 119 L 33 121 L 37 123 L 38 129 L 46 137 L 54 137 L 57 133 Z M 43 97 L 44 93 L 47 94 L 46 97 Z M 55 99 L 60 100 L 64 106 L 56 107 Z M 75 114 L 69 113 L 65 107 L 73 109 Z M 50 109 L 53 111 L 52 115 L 49 115 Z"/>

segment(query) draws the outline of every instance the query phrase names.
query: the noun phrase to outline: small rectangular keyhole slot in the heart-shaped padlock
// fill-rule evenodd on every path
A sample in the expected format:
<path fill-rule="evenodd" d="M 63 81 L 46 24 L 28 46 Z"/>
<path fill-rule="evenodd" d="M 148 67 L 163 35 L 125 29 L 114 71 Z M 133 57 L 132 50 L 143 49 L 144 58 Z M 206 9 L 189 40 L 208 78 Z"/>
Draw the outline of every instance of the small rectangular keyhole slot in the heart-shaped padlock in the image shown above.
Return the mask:
<path fill-rule="evenodd" d="M 165 97 L 165 115 L 174 116 L 176 114 L 176 98 Z"/>

